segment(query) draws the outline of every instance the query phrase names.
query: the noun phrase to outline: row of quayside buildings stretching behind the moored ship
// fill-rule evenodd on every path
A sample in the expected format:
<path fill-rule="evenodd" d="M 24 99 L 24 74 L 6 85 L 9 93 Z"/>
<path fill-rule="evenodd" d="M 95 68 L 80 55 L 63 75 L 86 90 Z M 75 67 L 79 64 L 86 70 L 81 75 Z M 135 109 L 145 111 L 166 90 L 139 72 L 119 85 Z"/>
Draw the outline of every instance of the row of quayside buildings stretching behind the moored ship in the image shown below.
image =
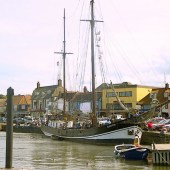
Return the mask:
<path fill-rule="evenodd" d="M 57 85 L 40 86 L 37 83 L 32 95 L 14 96 L 14 115 L 31 115 L 34 118 L 44 115 L 61 113 L 64 104 L 64 88 L 62 80 Z M 126 114 L 121 105 L 123 104 L 131 112 L 145 112 L 151 109 L 152 105 L 159 105 L 159 115 L 169 117 L 170 88 L 152 87 L 123 82 L 119 84 L 103 83 L 96 88 L 96 110 L 97 114 L 107 116 L 110 113 Z M 119 100 L 122 104 L 119 103 Z M 83 92 L 66 91 L 66 111 L 70 114 L 76 112 L 91 112 L 91 92 L 84 87 Z M 1 99 L 2 100 L 2 99 Z M 5 104 L 0 100 L 0 113 L 5 113 Z"/>

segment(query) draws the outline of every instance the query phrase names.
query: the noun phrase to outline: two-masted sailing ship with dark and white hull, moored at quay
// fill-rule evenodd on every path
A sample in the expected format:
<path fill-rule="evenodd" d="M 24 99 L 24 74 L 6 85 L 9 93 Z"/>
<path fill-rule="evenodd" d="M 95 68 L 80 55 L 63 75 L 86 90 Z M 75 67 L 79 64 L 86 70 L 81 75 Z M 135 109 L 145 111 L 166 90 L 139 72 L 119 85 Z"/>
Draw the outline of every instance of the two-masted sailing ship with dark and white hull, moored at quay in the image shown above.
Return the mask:
<path fill-rule="evenodd" d="M 125 120 L 121 121 L 111 121 L 107 124 L 101 125 L 96 116 L 96 92 L 95 92 L 95 59 L 94 59 L 94 25 L 96 20 L 94 20 L 94 0 L 91 0 L 91 70 L 92 70 L 92 116 L 91 124 L 86 124 L 84 126 L 73 126 L 72 121 L 56 120 L 53 122 L 49 120 L 48 124 L 43 124 L 41 126 L 42 132 L 51 137 L 52 139 L 58 140 L 68 140 L 83 143 L 92 144 L 118 144 L 118 143 L 133 143 L 136 136 L 141 138 L 142 129 L 135 123 Z M 64 50 L 63 59 L 65 59 L 65 10 L 64 10 Z M 64 62 L 63 62 L 64 63 Z M 65 69 L 65 66 L 64 66 Z M 65 70 L 64 70 L 65 72 Z M 65 85 L 65 76 L 63 77 Z M 65 87 L 64 87 L 65 89 Z M 65 93 L 65 91 L 64 91 Z M 64 95 L 65 97 L 65 95 Z M 65 107 L 65 98 L 64 98 Z M 63 109 L 65 112 L 65 109 Z M 62 126 L 62 123 L 64 126 Z"/>

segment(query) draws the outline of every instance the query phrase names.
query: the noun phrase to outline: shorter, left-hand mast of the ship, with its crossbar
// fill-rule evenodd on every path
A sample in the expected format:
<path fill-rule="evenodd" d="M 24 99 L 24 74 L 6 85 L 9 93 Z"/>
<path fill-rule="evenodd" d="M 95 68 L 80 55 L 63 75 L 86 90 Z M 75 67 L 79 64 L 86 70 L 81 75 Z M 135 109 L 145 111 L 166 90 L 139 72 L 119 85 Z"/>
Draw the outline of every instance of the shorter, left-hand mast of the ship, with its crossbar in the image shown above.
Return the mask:
<path fill-rule="evenodd" d="M 66 54 L 73 54 L 73 53 L 66 53 L 66 40 L 65 40 L 65 8 L 64 8 L 64 40 L 63 40 L 63 45 L 64 49 L 63 52 L 54 52 L 55 54 L 62 54 L 63 55 L 63 88 L 64 88 L 64 104 L 63 104 L 63 112 L 64 114 L 66 113 L 66 74 L 65 74 L 65 59 L 66 59 Z"/>

